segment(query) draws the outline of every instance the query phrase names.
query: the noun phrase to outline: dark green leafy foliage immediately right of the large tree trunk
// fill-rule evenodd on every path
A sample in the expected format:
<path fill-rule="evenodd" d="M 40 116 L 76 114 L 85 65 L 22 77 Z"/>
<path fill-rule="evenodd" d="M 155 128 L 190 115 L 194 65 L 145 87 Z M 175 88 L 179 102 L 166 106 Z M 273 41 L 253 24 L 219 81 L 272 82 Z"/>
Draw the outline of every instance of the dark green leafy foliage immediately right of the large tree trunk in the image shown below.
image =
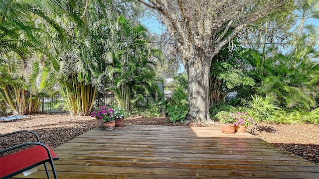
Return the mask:
<path fill-rule="evenodd" d="M 238 87 L 251 88 L 255 85 L 245 66 L 244 51 L 238 43 L 223 47 L 214 56 L 210 67 L 209 98 L 210 107 L 221 103 L 224 97 Z"/>

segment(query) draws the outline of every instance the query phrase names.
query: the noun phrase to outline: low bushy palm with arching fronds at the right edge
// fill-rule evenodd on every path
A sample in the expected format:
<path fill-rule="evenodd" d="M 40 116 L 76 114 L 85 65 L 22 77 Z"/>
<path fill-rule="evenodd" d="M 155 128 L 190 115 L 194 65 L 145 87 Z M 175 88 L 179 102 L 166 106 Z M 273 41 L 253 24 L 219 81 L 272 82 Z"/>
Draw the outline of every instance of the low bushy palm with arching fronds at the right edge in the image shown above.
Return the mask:
<path fill-rule="evenodd" d="M 259 93 L 269 94 L 286 107 L 299 106 L 306 109 L 315 106 L 313 96 L 309 95 L 313 77 L 319 72 L 319 65 L 309 59 L 279 54 L 266 59 L 266 77 L 262 78 Z M 318 75 L 315 77 L 318 79 Z"/>

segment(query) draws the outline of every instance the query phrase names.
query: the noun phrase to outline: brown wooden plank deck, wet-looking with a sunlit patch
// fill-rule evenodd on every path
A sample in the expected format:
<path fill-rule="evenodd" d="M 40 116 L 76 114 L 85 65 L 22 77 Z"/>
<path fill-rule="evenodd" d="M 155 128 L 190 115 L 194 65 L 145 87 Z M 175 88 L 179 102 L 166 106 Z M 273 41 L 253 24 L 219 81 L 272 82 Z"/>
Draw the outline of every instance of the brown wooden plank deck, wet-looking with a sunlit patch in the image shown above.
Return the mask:
<path fill-rule="evenodd" d="M 95 128 L 54 151 L 59 179 L 319 179 L 319 166 L 301 157 L 248 133 L 216 128 Z M 38 170 L 27 178 L 46 178 Z"/>

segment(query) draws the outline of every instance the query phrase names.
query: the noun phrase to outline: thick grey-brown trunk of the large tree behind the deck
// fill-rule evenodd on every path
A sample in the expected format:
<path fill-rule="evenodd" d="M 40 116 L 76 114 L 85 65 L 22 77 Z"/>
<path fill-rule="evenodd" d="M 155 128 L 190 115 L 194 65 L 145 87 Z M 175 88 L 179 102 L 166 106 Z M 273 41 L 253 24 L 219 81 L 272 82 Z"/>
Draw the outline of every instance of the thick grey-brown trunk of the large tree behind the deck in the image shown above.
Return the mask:
<path fill-rule="evenodd" d="M 189 111 L 185 122 L 195 124 L 211 124 L 209 117 L 209 72 L 211 55 L 205 53 L 202 48 L 195 48 L 191 58 L 183 59 L 188 75 L 188 102 Z M 191 52 L 189 52 L 191 53 Z"/>

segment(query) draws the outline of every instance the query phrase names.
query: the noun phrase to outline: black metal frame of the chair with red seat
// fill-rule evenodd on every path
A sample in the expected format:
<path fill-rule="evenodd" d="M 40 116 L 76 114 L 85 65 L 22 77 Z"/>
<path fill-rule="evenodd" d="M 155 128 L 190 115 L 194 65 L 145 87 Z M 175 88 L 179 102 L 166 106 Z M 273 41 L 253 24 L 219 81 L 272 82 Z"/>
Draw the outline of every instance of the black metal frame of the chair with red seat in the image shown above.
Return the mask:
<path fill-rule="evenodd" d="M 20 174 L 20 173 L 22 173 L 22 172 L 25 172 L 25 171 L 27 171 L 27 170 L 30 170 L 30 169 L 32 169 L 32 168 L 34 168 L 34 167 L 36 167 L 36 166 L 41 165 L 41 164 L 44 165 L 45 172 L 46 172 L 46 176 L 47 176 L 48 179 L 50 179 L 50 175 L 49 175 L 49 171 L 48 171 L 47 166 L 46 166 L 46 162 L 48 162 L 48 163 L 51 165 L 54 179 L 57 179 L 57 175 L 56 175 L 56 171 L 55 171 L 55 168 L 54 168 L 53 160 L 59 160 L 59 158 L 52 158 L 51 152 L 50 152 L 49 148 L 48 148 L 45 144 L 43 144 L 43 143 L 40 142 L 39 136 L 38 136 L 35 132 L 33 132 L 33 131 L 28 131 L 28 130 L 20 130 L 20 131 L 15 131 L 15 132 L 7 133 L 7 134 L 2 134 L 2 135 L 0 135 L 0 137 L 5 137 L 5 136 L 12 135 L 12 134 L 21 133 L 21 132 L 26 132 L 26 133 L 31 133 L 31 134 L 33 134 L 33 135 L 36 137 L 36 142 L 27 142 L 27 143 L 23 143 L 23 144 L 19 144 L 19 145 L 13 146 L 13 147 L 9 147 L 9 148 L 3 149 L 3 150 L 0 150 L 0 154 L 2 154 L 2 153 L 4 153 L 4 152 L 7 152 L 7 151 L 11 151 L 11 150 L 17 149 L 17 148 L 20 148 L 20 147 L 22 147 L 22 146 L 27 146 L 27 145 L 39 145 L 39 146 L 42 146 L 42 147 L 45 148 L 45 150 L 47 151 L 47 154 L 48 154 L 48 158 L 49 158 L 49 159 L 48 159 L 48 160 L 44 160 L 44 161 L 39 162 L 39 163 L 36 163 L 36 164 L 34 164 L 34 165 L 30 165 L 30 166 L 28 166 L 28 167 L 26 167 L 26 168 L 24 168 L 24 169 L 20 169 L 19 171 L 15 172 L 15 173 L 12 173 L 12 174 L 9 174 L 9 175 L 7 175 L 7 176 L 3 176 L 3 177 L 1 177 L 0 179 L 8 179 L 8 178 L 11 178 L 11 177 L 13 177 L 13 176 L 15 176 L 15 175 L 18 175 L 18 174 Z M 28 150 L 28 149 L 25 149 L 25 150 Z M 10 154 L 10 155 L 14 155 L 14 153 L 13 153 L 13 154 Z M 17 162 L 19 162 L 19 161 L 17 161 Z"/>

